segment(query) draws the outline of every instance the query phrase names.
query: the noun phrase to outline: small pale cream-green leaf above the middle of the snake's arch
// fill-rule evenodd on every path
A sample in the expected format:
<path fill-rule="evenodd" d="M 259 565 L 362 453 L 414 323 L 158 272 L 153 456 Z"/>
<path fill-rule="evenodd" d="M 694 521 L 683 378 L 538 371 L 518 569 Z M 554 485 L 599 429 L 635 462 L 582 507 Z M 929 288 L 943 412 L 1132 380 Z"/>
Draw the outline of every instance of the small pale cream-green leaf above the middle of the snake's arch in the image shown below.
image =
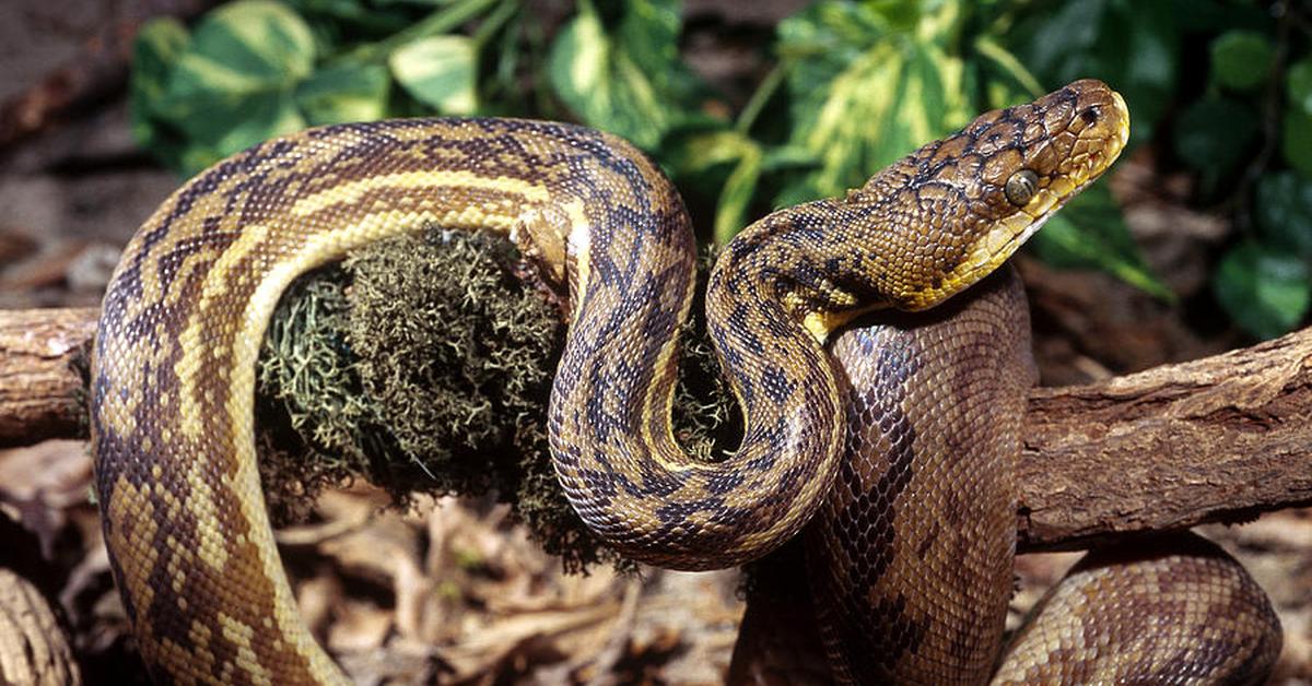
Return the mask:
<path fill-rule="evenodd" d="M 396 81 L 420 102 L 445 114 L 478 111 L 478 50 L 470 38 L 421 38 L 392 52 L 388 64 Z"/>

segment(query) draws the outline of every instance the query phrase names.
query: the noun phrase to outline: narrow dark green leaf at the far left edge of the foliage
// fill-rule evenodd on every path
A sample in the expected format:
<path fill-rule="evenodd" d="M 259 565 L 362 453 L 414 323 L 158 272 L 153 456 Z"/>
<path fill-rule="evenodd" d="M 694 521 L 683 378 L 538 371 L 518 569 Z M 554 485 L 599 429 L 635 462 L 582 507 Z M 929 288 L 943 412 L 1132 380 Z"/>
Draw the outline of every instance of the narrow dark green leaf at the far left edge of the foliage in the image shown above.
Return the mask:
<path fill-rule="evenodd" d="M 172 17 L 147 21 L 133 45 L 130 121 L 136 144 L 155 152 L 176 167 L 181 144 L 176 132 L 160 126 L 155 104 L 163 97 L 173 73 L 173 63 L 186 49 L 190 37 L 182 22 Z"/>

